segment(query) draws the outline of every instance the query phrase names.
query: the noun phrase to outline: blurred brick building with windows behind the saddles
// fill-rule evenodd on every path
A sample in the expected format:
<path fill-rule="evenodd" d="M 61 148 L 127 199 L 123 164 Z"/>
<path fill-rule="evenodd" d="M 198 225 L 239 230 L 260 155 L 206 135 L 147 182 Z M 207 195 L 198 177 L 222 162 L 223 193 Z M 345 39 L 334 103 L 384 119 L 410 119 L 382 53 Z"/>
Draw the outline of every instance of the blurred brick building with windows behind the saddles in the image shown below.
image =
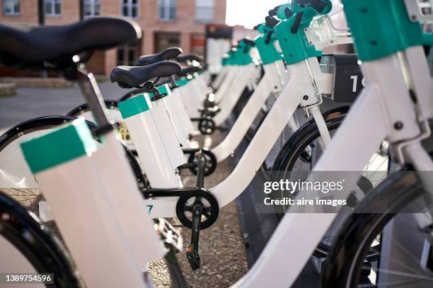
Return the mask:
<path fill-rule="evenodd" d="M 124 16 L 142 27 L 144 37 L 119 49 L 96 52 L 88 70 L 108 75 L 116 65 L 132 65 L 140 54 L 179 46 L 204 54 L 204 30 L 224 24 L 226 0 L 0 0 L 0 23 L 62 25 L 90 16 Z M 0 68 L 0 76 L 13 75 Z"/>

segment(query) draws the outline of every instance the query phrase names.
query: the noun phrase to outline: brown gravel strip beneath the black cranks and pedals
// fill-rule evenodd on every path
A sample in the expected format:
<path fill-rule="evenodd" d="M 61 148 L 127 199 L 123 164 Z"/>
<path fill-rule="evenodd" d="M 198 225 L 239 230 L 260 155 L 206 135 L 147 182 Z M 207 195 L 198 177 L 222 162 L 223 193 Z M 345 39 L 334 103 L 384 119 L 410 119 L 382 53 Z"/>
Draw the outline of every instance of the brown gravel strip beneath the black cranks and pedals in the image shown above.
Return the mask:
<path fill-rule="evenodd" d="M 214 147 L 222 140 L 219 131 L 210 138 L 197 138 L 206 147 Z M 229 160 L 217 165 L 217 170 L 204 179 L 204 186 L 211 188 L 224 181 L 231 172 Z M 184 186 L 195 186 L 195 176 L 183 172 Z M 236 201 L 229 203 L 219 211 L 219 217 L 212 227 L 200 232 L 200 258 L 202 267 L 192 271 L 185 256 L 187 245 L 190 243 L 191 230 L 182 226 L 177 220 L 172 220 L 183 237 L 183 251 L 178 254 L 180 268 L 183 271 L 188 287 L 222 288 L 229 287 L 238 281 L 248 271 L 245 246 L 241 236 L 241 226 L 238 218 Z M 155 286 L 171 287 L 169 275 L 163 260 L 149 265 L 149 271 Z"/>

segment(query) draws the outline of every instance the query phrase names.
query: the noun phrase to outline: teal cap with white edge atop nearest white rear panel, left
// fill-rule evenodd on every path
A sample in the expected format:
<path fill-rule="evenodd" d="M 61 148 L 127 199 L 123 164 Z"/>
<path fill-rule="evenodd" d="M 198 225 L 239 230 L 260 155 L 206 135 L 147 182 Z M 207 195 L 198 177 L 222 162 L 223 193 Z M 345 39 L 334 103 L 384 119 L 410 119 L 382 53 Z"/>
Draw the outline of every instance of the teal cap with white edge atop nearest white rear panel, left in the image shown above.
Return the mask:
<path fill-rule="evenodd" d="M 21 143 L 25 161 L 33 174 L 91 155 L 97 150 L 84 118 L 54 131 Z"/>

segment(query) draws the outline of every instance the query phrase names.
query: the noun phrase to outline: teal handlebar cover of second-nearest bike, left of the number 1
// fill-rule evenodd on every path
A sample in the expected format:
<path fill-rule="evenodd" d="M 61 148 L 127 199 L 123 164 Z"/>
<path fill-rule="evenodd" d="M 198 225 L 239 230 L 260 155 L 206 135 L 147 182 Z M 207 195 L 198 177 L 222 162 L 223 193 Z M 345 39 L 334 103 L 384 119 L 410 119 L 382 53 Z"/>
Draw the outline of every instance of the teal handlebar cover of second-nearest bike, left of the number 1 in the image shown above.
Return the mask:
<path fill-rule="evenodd" d="M 332 9 L 330 0 L 323 1 L 327 2 L 327 6 L 323 8 L 321 13 L 309 4 L 303 7 L 296 1 L 292 1 L 291 11 L 293 15 L 275 26 L 275 34 L 277 35 L 279 46 L 282 49 L 284 60 L 287 64 L 295 64 L 310 57 L 322 56 L 321 51 L 316 50 L 314 45 L 308 43 L 304 29 L 310 26 L 314 16 L 326 14 Z M 299 29 L 295 33 L 292 33 L 291 28 L 294 26 L 296 16 L 299 13 L 303 13 Z"/>

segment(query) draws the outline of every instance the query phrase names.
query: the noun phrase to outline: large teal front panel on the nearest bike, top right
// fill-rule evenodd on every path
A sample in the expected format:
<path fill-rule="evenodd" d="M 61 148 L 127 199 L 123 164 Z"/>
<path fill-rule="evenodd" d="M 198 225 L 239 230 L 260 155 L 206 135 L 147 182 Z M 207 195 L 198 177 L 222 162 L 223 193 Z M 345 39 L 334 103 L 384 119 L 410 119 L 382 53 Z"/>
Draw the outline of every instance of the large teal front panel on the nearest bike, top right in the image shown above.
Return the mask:
<path fill-rule="evenodd" d="M 420 23 L 412 22 L 403 0 L 343 0 L 358 57 L 371 61 L 424 43 Z"/>

